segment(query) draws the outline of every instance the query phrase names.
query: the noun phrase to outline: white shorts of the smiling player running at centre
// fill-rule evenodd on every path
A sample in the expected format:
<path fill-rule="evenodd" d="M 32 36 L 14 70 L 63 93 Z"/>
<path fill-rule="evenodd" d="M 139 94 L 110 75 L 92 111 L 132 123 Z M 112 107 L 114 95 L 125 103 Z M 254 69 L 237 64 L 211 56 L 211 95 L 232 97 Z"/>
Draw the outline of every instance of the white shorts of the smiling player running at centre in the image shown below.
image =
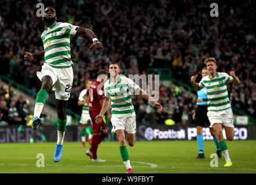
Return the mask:
<path fill-rule="evenodd" d="M 136 132 L 136 116 L 115 117 L 112 115 L 111 123 L 113 127 L 111 132 L 115 132 L 118 129 L 124 129 L 129 134 L 135 134 Z"/>

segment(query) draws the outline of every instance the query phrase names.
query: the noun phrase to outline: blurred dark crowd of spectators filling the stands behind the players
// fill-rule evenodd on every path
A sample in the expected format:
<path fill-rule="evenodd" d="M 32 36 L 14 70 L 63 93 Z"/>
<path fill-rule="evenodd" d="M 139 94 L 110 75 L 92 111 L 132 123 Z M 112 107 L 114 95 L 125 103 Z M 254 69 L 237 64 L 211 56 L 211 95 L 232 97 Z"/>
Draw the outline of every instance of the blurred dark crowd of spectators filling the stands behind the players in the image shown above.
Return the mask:
<path fill-rule="evenodd" d="M 170 69 L 174 79 L 191 86 L 190 77 L 200 76 L 204 59 L 215 57 L 217 71 L 235 71 L 241 81 L 228 84 L 232 107 L 256 118 L 255 1 L 218 1 L 218 17 L 210 16 L 213 1 L 1 1 L 0 73 L 30 88 L 34 97 L 41 87 L 36 72 L 41 71 L 43 58 L 27 62 L 24 52 L 43 50 L 44 25 L 36 17 L 39 2 L 56 9 L 57 21 L 91 29 L 104 46 L 92 51 L 92 40 L 71 37 L 75 66 L 68 109 L 73 112 L 81 113 L 77 99 L 86 80 L 95 79 L 99 69 L 107 70 L 111 61 L 120 62 L 126 76 L 147 74 L 147 68 Z M 159 89 L 162 113 L 145 99 L 133 99 L 138 124 L 164 124 L 168 119 L 175 124 L 193 123 L 195 95 L 172 82 L 160 83 Z M 11 109 L 12 121 L 24 120 L 20 112 L 27 103 L 3 97 L 1 119 L 7 119 Z M 13 106 L 19 112 L 16 118 Z M 9 114 L 2 113 L 8 110 Z"/>

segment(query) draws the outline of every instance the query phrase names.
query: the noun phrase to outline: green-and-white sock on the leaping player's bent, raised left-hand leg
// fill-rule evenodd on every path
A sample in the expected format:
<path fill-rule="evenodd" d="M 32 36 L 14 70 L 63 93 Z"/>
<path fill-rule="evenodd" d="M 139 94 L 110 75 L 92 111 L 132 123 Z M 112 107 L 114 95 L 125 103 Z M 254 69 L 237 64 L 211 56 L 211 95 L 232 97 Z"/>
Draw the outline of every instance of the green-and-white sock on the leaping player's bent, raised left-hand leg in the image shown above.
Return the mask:
<path fill-rule="evenodd" d="M 40 117 L 43 105 L 45 104 L 47 97 L 47 91 L 44 89 L 41 89 L 38 91 L 38 94 L 36 95 L 36 101 L 35 101 L 35 109 L 34 109 L 34 117 Z"/>

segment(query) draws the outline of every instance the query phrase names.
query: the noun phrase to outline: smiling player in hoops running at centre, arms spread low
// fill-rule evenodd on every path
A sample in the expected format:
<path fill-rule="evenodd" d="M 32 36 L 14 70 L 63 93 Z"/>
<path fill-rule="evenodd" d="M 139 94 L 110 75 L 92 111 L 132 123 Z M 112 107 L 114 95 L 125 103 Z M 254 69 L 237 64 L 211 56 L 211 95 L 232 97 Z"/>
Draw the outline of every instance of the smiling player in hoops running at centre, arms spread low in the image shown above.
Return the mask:
<path fill-rule="evenodd" d="M 109 71 L 111 77 L 104 83 L 105 99 L 100 114 L 96 116 L 96 123 L 100 123 L 103 120 L 103 115 L 106 112 L 109 103 L 111 102 L 111 123 L 112 132 L 115 132 L 119 140 L 119 150 L 123 159 L 123 163 L 126 166 L 126 173 L 133 173 L 130 165 L 128 151 L 126 149 L 126 139 L 130 146 L 135 143 L 136 133 L 136 113 L 134 112 L 133 103 L 131 102 L 130 89 L 139 90 L 140 94 L 144 98 L 149 99 L 156 108 L 162 111 L 163 107 L 160 103 L 153 100 L 153 98 L 145 91 L 143 91 L 133 80 L 120 76 L 120 67 L 116 62 L 112 62 L 109 65 Z"/>

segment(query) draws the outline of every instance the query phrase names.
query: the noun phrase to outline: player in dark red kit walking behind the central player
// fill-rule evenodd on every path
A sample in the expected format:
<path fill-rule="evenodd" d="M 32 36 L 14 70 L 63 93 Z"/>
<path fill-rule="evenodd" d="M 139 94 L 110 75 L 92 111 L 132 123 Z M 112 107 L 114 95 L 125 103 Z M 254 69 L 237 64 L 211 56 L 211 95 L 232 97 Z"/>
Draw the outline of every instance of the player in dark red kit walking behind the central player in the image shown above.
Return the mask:
<path fill-rule="evenodd" d="M 89 156 L 93 162 L 105 162 L 101 158 L 97 157 L 98 145 L 108 136 L 108 131 L 104 121 L 100 123 L 95 122 L 95 117 L 100 113 L 101 107 L 104 101 L 104 82 L 108 80 L 108 72 L 101 69 L 97 72 L 97 80 L 92 83 L 89 90 L 85 94 L 85 101 L 89 105 L 89 114 L 93 122 L 93 140 L 89 150 L 86 151 L 86 155 Z M 109 120 L 111 120 L 111 114 L 107 112 Z"/>

